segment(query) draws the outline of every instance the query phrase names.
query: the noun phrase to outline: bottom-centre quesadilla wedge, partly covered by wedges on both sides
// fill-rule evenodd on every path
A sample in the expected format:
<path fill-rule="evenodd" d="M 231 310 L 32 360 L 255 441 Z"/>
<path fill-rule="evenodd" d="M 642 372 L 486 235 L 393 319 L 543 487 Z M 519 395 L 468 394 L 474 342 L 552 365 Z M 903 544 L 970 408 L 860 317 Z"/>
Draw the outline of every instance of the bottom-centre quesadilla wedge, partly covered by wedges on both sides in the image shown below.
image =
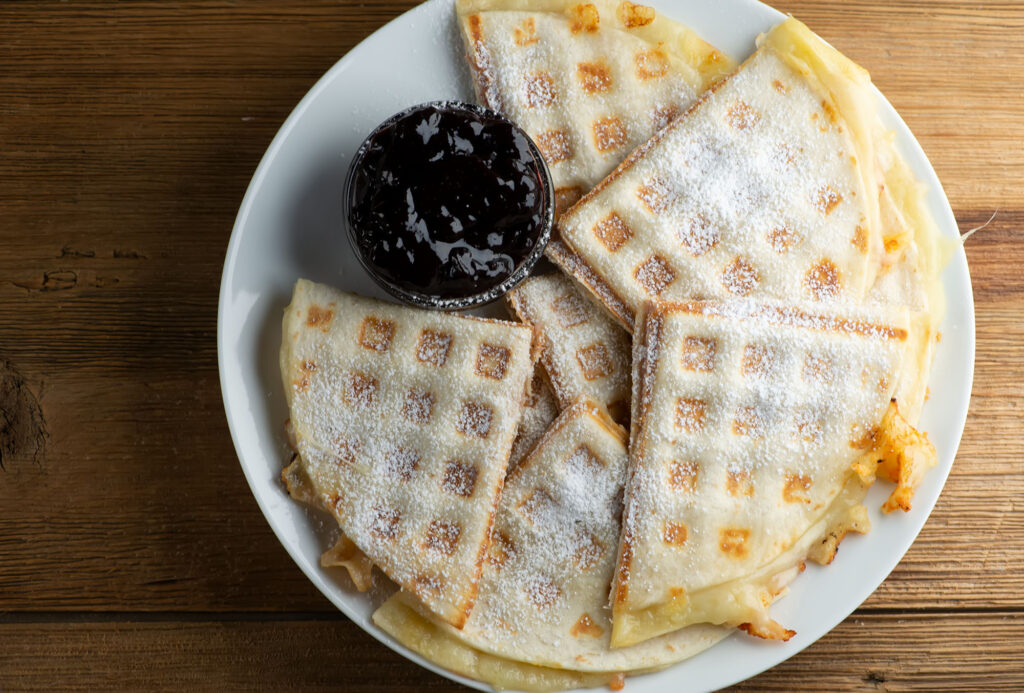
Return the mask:
<path fill-rule="evenodd" d="M 433 661 L 500 688 L 598 685 L 710 647 L 728 631 L 698 625 L 609 647 L 626 468 L 625 432 L 592 401 L 570 406 L 505 482 L 476 606 L 462 629 L 418 618 L 422 607 L 406 593 L 375 622 Z"/>

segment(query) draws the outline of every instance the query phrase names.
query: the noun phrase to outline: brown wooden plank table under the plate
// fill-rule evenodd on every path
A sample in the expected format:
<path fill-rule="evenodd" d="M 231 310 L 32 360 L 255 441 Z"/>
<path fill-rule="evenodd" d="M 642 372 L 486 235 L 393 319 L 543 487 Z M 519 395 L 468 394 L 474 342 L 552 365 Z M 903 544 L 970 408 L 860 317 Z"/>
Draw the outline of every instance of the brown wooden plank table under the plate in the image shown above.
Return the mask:
<path fill-rule="evenodd" d="M 253 170 L 412 4 L 0 3 L 0 690 L 457 688 L 292 563 L 217 378 Z M 861 609 L 739 688 L 1024 690 L 1024 3 L 780 4 L 871 71 L 963 229 L 997 213 L 968 243 L 974 396 L 935 512 Z"/>

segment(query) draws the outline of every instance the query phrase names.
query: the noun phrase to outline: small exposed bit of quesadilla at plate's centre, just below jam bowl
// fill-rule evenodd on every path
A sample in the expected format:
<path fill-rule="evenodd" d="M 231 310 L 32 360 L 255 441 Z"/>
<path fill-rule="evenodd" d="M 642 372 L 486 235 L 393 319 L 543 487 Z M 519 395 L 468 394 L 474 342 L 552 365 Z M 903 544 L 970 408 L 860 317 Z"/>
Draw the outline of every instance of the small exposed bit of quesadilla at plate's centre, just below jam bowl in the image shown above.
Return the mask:
<path fill-rule="evenodd" d="M 630 336 L 621 324 L 561 272 L 532 276 L 505 300 L 538 331 L 541 362 L 562 408 L 589 398 L 615 421 L 629 421 Z"/>

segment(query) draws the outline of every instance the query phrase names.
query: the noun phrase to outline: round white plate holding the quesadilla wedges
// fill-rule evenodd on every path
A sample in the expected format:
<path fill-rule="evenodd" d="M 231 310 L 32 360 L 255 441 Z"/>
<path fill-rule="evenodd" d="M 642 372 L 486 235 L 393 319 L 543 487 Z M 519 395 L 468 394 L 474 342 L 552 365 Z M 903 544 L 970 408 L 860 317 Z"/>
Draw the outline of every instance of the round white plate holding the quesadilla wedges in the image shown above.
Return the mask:
<path fill-rule="evenodd" d="M 753 51 L 758 33 L 782 18 L 755 0 L 651 4 L 737 59 Z M 224 408 L 242 469 L 267 521 L 299 567 L 328 599 L 381 642 L 442 676 L 486 690 L 433 666 L 373 625 L 370 616 L 380 595 L 360 595 L 340 569 L 319 567 L 329 528 L 289 499 L 279 481 L 289 456 L 278 369 L 283 310 L 300 276 L 383 297 L 351 257 L 343 235 L 345 171 L 361 139 L 392 113 L 438 98 L 472 100 L 454 14 L 451 0 L 431 0 L 391 21 L 339 60 L 285 122 L 253 176 L 231 232 L 220 287 L 217 354 Z M 924 151 L 888 102 L 883 111 L 914 172 L 929 185 L 929 206 L 942 233 L 956 236 L 949 203 Z M 871 532 L 848 537 L 830 566 L 809 566 L 790 596 L 772 607 L 779 622 L 797 631 L 790 642 L 733 636 L 670 669 L 631 679 L 632 693 L 710 690 L 756 676 L 835 627 L 899 562 L 946 480 L 971 395 L 974 303 L 963 250 L 953 256 L 942 279 L 948 308 L 932 370 L 931 399 L 922 420 L 938 449 L 939 466 L 918 490 L 913 510 L 884 516 L 879 507 L 889 491 L 887 484 L 871 489 L 867 504 Z"/>

